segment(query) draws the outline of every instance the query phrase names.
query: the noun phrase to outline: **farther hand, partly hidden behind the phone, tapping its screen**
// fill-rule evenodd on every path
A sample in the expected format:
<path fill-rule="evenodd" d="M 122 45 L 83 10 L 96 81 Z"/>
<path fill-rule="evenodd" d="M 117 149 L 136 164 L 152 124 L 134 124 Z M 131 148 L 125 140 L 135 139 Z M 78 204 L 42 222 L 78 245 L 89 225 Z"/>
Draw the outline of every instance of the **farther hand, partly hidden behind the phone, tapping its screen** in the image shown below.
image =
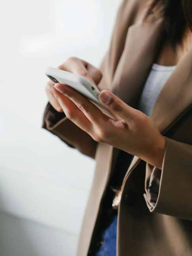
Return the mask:
<path fill-rule="evenodd" d="M 71 57 L 67 59 L 63 64 L 61 64 L 58 68 L 67 72 L 84 76 L 94 85 L 98 85 L 98 83 L 102 79 L 102 73 L 98 68 L 95 68 L 88 62 L 80 60 L 79 58 Z M 56 109 L 56 111 L 58 112 L 63 112 L 63 109 L 61 108 L 58 100 L 51 91 L 51 89 L 53 89 L 53 86 L 54 83 L 52 81 L 48 81 L 45 87 L 46 95 L 54 109 Z"/>

